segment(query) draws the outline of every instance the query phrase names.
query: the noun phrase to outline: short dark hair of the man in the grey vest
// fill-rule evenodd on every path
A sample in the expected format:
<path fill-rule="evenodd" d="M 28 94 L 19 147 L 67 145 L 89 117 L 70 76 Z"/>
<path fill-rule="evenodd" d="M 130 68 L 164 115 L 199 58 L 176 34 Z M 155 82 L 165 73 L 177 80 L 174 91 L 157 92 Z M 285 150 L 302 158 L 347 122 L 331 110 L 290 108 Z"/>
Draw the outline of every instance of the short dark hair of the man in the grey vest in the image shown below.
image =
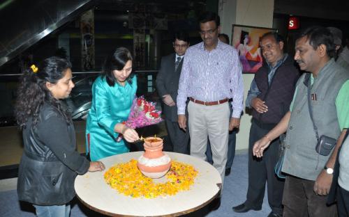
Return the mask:
<path fill-rule="evenodd" d="M 320 45 L 326 46 L 327 56 L 330 58 L 334 57 L 336 54 L 336 45 L 334 45 L 334 38 L 332 33 L 322 26 L 311 26 L 307 29 L 304 29 L 299 34 L 299 38 L 306 37 L 306 40 L 309 40 L 309 45 L 313 49 L 317 49 Z"/>

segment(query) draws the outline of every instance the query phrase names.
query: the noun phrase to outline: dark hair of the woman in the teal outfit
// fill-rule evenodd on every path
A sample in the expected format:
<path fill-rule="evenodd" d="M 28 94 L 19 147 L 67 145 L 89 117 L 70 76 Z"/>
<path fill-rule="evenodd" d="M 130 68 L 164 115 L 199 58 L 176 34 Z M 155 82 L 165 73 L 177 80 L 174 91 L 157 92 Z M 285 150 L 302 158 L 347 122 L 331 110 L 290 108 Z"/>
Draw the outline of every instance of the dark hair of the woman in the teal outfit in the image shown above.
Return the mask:
<path fill-rule="evenodd" d="M 112 71 L 122 70 L 128 61 L 132 61 L 131 52 L 125 47 L 119 47 L 113 51 L 105 59 L 102 74 L 107 80 L 109 86 L 114 86 L 117 79 L 114 77 Z M 128 77 L 128 82 L 131 83 L 131 79 L 134 76 L 133 73 Z"/>

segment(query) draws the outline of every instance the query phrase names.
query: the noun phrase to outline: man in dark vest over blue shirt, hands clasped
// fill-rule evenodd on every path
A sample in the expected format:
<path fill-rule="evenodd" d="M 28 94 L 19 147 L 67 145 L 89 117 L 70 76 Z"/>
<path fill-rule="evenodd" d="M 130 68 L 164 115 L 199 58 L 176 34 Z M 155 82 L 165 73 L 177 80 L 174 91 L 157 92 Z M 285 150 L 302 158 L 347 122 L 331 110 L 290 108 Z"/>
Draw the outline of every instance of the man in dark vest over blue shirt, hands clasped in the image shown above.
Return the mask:
<path fill-rule="evenodd" d="M 246 201 L 235 212 L 262 209 L 265 186 L 272 212 L 268 217 L 282 216 L 283 179 L 276 177 L 274 167 L 278 161 L 279 137 L 272 141 L 265 156 L 256 159 L 251 154 L 255 141 L 265 136 L 276 126 L 290 108 L 299 70 L 292 56 L 283 53 L 283 38 L 278 33 L 265 33 L 260 39 L 260 49 L 265 58 L 262 67 L 255 73 L 246 98 L 246 106 L 252 109 L 252 124 L 248 154 L 248 190 Z"/>

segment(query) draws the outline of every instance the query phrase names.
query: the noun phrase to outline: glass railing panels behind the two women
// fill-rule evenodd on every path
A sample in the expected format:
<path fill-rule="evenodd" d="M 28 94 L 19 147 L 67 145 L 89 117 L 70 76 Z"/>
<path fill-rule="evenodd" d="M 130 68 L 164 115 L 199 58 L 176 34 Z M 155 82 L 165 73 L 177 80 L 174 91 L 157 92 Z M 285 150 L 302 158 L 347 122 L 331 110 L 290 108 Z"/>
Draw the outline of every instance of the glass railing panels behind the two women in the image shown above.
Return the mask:
<path fill-rule="evenodd" d="M 158 70 L 137 70 L 138 78 L 137 96 L 144 97 L 151 102 L 156 102 L 156 109 L 161 110 L 161 102 L 156 93 L 155 79 Z M 94 80 L 101 72 L 73 72 L 75 88 L 70 97 L 65 99 L 66 104 L 72 113 L 73 120 L 84 120 L 91 108 L 91 87 Z M 15 124 L 13 117 L 14 104 L 17 93 L 17 85 L 20 74 L 0 75 L 0 127 L 12 126 Z"/>

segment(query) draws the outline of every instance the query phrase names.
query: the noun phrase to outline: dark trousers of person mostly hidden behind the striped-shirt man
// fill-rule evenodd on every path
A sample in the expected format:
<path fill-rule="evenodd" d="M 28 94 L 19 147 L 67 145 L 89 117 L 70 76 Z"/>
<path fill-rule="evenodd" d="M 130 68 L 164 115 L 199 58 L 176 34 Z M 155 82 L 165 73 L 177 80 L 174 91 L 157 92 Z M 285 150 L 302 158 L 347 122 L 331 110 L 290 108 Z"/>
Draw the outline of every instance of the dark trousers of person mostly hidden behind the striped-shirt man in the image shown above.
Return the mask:
<path fill-rule="evenodd" d="M 233 129 L 229 131 L 229 139 L 228 139 L 228 158 L 227 163 L 225 163 L 225 169 L 232 168 L 232 161 L 234 161 L 235 157 L 235 146 L 237 140 L 237 129 Z M 207 150 L 206 150 L 207 162 L 213 163 L 212 161 L 212 152 L 211 146 L 209 145 L 209 140 L 207 140 Z"/>

